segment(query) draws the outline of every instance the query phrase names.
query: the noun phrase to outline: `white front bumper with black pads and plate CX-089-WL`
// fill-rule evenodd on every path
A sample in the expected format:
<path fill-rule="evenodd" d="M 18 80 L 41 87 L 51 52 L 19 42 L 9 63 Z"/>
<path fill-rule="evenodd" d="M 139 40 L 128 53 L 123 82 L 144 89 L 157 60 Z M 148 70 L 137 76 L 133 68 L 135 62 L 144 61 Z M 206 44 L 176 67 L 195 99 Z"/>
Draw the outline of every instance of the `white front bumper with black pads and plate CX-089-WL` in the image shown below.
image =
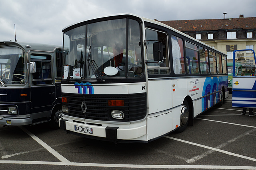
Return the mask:
<path fill-rule="evenodd" d="M 83 129 L 79 131 L 80 128 Z M 108 125 L 88 125 L 83 123 L 77 123 L 68 121 L 67 119 L 60 119 L 60 129 L 79 133 L 84 137 L 101 137 L 107 141 L 117 140 L 141 140 L 143 136 L 146 136 L 146 125 L 140 125 L 137 127 L 117 127 Z M 85 129 L 85 131 L 84 131 Z M 73 133 L 73 134 L 74 134 Z"/>

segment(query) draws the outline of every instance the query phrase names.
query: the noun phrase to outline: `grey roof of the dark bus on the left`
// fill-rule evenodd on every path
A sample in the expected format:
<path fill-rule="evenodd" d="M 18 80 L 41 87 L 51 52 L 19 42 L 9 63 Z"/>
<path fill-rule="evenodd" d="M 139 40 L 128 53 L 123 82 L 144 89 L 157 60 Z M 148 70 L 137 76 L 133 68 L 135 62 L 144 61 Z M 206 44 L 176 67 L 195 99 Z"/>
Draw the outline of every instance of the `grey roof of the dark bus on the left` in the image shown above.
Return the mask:
<path fill-rule="evenodd" d="M 61 48 L 59 45 L 49 45 L 49 44 L 40 44 L 40 43 L 25 43 L 25 42 L 13 42 L 13 41 L 2 41 L 0 42 L 0 47 L 5 46 L 18 46 L 25 51 L 37 50 L 37 51 L 50 51 L 53 52 L 56 48 Z"/>

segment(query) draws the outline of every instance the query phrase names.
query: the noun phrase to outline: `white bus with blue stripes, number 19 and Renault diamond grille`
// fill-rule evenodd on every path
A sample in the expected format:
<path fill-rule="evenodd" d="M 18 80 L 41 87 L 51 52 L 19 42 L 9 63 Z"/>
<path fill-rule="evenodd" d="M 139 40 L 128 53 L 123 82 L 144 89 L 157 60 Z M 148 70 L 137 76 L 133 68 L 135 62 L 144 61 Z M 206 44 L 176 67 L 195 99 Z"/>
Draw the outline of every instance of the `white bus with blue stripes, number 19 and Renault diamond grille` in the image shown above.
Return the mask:
<path fill-rule="evenodd" d="M 227 56 L 158 21 L 118 14 L 64 32 L 60 128 L 149 142 L 228 97 Z"/>

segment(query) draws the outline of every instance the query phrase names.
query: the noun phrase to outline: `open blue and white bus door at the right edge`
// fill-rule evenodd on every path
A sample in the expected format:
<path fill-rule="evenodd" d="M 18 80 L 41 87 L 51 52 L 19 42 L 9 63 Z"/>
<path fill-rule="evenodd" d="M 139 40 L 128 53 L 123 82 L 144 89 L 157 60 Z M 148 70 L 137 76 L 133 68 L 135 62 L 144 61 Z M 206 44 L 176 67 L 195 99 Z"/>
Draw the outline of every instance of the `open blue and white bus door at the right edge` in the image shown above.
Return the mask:
<path fill-rule="evenodd" d="M 256 76 L 250 72 L 250 76 L 236 76 L 235 62 L 244 61 L 255 65 L 255 53 L 253 50 L 236 50 L 233 52 L 233 88 L 232 107 L 256 107 Z M 247 74 L 248 72 L 242 72 Z"/>

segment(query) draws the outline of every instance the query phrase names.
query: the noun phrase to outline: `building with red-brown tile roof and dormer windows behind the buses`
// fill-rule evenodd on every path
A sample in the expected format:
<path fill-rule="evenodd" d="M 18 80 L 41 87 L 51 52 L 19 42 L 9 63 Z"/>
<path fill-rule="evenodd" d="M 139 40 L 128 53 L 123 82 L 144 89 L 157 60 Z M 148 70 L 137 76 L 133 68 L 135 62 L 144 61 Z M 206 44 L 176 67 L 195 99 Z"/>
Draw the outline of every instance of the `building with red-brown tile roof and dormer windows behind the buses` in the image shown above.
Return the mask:
<path fill-rule="evenodd" d="M 232 51 L 236 49 L 255 50 L 256 17 L 244 18 L 243 15 L 240 15 L 239 18 L 159 22 L 226 53 L 230 60 L 229 62 L 232 62 Z"/>

